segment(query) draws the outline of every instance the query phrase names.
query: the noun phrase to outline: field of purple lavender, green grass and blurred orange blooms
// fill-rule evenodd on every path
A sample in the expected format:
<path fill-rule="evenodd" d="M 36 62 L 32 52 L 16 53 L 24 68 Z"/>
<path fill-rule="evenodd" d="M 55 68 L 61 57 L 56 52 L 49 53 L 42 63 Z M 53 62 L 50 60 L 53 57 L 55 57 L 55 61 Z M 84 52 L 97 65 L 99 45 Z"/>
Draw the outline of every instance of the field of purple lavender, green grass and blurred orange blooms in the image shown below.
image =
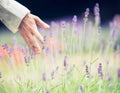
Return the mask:
<path fill-rule="evenodd" d="M 35 55 L 19 34 L 0 34 L 0 93 L 120 93 L 120 27 L 115 20 L 52 21 L 42 54 Z"/>

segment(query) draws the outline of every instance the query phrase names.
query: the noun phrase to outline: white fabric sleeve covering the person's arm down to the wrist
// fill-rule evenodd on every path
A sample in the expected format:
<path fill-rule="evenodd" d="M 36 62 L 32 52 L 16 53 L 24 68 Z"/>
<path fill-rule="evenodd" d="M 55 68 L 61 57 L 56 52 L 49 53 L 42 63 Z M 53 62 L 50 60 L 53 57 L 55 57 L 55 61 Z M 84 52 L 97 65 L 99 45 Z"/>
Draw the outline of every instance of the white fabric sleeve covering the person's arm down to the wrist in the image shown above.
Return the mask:
<path fill-rule="evenodd" d="M 22 19 L 29 12 L 15 0 L 0 0 L 0 19 L 13 33 L 18 31 Z"/>

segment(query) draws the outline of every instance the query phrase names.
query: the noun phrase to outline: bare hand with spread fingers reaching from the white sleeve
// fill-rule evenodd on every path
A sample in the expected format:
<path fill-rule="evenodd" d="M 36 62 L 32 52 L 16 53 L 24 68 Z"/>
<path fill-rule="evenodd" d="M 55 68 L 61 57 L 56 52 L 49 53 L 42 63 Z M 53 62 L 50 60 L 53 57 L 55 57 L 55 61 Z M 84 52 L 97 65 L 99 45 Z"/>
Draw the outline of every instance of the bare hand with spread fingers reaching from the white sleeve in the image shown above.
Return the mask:
<path fill-rule="evenodd" d="M 44 43 L 43 37 L 38 32 L 37 25 L 42 28 L 49 28 L 49 25 L 44 23 L 41 19 L 39 19 L 39 17 L 29 13 L 23 18 L 19 26 L 20 34 L 24 38 L 27 45 L 33 49 L 35 54 L 41 53 L 41 48 L 37 42 L 37 39 L 42 44 Z"/>

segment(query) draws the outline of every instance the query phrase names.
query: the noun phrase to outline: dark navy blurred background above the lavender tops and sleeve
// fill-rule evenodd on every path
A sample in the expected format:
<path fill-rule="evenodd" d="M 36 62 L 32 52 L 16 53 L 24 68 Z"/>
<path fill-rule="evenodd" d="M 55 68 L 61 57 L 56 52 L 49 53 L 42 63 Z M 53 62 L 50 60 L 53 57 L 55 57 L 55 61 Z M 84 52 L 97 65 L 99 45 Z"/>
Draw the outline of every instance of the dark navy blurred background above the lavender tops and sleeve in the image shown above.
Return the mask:
<path fill-rule="evenodd" d="M 31 12 L 44 21 L 71 18 L 73 15 L 82 16 L 86 8 L 90 8 L 91 15 L 96 3 L 100 5 L 102 24 L 109 22 L 120 14 L 120 0 L 17 0 Z M 5 27 L 0 22 L 0 27 Z"/>

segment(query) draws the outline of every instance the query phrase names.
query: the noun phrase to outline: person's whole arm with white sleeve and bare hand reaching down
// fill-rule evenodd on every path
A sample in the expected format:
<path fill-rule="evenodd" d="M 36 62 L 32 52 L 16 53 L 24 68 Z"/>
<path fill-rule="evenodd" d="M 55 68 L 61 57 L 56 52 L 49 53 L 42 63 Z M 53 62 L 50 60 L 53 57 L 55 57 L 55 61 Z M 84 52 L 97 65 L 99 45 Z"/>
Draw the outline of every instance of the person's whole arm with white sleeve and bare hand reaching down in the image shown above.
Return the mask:
<path fill-rule="evenodd" d="M 49 25 L 14 0 L 0 0 L 0 18 L 13 33 L 19 31 L 36 54 L 41 53 L 37 39 L 41 43 L 44 43 L 44 40 L 37 30 L 37 25 L 43 28 L 49 28 Z"/>

